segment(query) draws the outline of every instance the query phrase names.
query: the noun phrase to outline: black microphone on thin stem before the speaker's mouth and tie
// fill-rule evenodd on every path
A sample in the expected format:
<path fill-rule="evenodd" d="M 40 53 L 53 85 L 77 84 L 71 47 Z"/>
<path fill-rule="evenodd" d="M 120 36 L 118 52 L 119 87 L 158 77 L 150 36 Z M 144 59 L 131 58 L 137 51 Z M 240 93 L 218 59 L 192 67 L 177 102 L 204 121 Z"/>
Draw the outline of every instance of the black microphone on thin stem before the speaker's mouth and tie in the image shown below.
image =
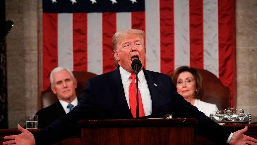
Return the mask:
<path fill-rule="evenodd" d="M 134 69 L 134 72 L 136 74 L 136 100 L 137 100 L 137 106 L 136 106 L 136 119 L 139 119 L 139 103 L 138 103 L 138 85 L 137 85 L 137 74 L 139 70 L 142 67 L 142 63 L 139 59 L 134 59 L 131 63 L 131 67 Z"/>

